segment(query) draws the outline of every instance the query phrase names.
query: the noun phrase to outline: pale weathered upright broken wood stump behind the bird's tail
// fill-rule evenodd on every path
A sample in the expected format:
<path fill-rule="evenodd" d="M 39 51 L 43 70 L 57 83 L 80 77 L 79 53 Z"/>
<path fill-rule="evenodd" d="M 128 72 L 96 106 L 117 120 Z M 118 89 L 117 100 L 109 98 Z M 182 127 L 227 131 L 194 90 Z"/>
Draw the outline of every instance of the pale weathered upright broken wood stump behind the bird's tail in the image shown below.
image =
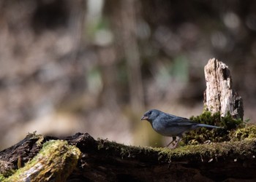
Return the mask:
<path fill-rule="evenodd" d="M 221 116 L 228 113 L 234 119 L 243 119 L 243 100 L 233 90 L 230 70 L 221 61 L 213 58 L 205 66 L 206 91 L 204 106 L 212 113 L 220 112 Z"/>

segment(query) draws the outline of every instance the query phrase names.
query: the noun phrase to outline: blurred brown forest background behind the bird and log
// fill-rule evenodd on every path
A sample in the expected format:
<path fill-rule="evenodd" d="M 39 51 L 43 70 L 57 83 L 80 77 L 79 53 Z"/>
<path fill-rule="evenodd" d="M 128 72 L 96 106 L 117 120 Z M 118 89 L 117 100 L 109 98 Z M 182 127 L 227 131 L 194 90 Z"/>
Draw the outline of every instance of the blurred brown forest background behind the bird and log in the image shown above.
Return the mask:
<path fill-rule="evenodd" d="M 162 146 L 144 111 L 199 115 L 210 58 L 255 121 L 256 1 L 0 0 L 0 149 L 28 132 Z M 156 137 L 156 138 L 155 138 Z"/>

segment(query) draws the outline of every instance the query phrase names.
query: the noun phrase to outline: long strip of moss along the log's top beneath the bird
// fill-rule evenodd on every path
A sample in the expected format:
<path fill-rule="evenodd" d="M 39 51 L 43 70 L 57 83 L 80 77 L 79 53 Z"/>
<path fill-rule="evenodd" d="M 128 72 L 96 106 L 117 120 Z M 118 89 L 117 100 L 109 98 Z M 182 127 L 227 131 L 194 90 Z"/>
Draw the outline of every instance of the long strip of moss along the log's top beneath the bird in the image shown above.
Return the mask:
<path fill-rule="evenodd" d="M 170 162 L 216 162 L 218 160 L 233 161 L 234 159 L 254 159 L 256 138 L 246 138 L 242 141 L 228 141 L 199 145 L 181 146 L 176 149 L 152 148 L 140 146 L 125 146 L 120 143 L 98 140 L 99 151 L 110 159 L 137 159 L 140 162 L 150 162 L 152 165 Z M 136 163 L 137 164 L 137 163 Z"/>

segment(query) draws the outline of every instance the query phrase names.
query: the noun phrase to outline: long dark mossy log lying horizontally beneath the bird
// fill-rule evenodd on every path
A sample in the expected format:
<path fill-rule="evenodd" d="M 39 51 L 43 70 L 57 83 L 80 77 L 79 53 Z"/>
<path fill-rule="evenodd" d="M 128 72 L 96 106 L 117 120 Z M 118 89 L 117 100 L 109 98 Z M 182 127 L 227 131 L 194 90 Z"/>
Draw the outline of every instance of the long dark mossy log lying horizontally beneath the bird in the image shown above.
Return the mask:
<path fill-rule="evenodd" d="M 256 181 L 256 138 L 171 150 L 96 141 L 87 133 L 66 138 L 27 135 L 20 143 L 0 152 L 0 181 L 11 181 L 15 175 L 23 176 L 20 170 L 28 168 L 31 161 L 42 154 L 44 143 L 59 140 L 64 141 L 67 148 L 77 148 L 78 163 L 69 170 L 65 162 L 51 165 L 59 168 L 58 173 L 66 171 L 67 178 L 56 178 L 59 175 L 52 174 L 56 170 L 48 170 L 47 178 L 37 178 L 36 181 Z M 64 146 L 59 150 L 60 156 L 66 154 L 62 150 Z M 58 156 L 56 152 L 52 153 Z M 54 162 L 54 159 L 50 161 Z M 50 162 L 45 163 L 50 165 Z M 65 167 L 61 167 L 62 164 Z M 33 176 L 30 181 L 35 178 Z"/>

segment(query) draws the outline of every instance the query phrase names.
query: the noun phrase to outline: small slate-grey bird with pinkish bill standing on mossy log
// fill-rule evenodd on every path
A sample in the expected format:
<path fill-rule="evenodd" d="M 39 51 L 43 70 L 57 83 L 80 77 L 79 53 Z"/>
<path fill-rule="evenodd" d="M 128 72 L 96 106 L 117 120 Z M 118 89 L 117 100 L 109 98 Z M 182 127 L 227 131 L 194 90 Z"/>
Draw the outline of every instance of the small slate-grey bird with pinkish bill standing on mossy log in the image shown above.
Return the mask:
<path fill-rule="evenodd" d="M 181 141 L 182 135 L 185 132 L 189 132 L 190 130 L 196 130 L 199 127 L 222 128 L 209 124 L 193 122 L 190 119 L 167 114 L 157 109 L 151 109 L 149 111 L 146 111 L 146 113 L 143 114 L 140 120 L 147 120 L 148 122 L 150 122 L 153 129 L 160 135 L 173 138 L 173 140 L 170 141 L 170 143 L 167 144 L 166 147 L 170 146 L 170 144 L 177 139 L 176 143 L 173 146 L 173 149 L 178 146 L 178 143 Z"/>

